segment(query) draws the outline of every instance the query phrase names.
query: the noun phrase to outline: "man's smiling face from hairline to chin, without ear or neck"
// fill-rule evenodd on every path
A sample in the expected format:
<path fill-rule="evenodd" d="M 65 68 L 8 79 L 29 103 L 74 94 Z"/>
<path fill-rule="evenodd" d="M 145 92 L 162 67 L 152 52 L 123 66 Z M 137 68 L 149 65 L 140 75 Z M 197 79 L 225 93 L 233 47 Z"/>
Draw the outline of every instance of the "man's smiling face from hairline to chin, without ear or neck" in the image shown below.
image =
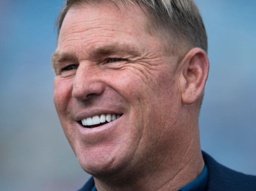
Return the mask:
<path fill-rule="evenodd" d="M 137 6 L 70 9 L 59 34 L 54 104 L 82 168 L 93 175 L 145 167 L 175 142 L 180 115 L 177 60 L 147 32 Z M 111 122 L 83 126 L 107 114 Z M 102 117 L 104 121 L 104 117 Z M 85 120 L 84 120 L 85 122 Z M 83 122 L 83 123 L 84 123 Z"/>

